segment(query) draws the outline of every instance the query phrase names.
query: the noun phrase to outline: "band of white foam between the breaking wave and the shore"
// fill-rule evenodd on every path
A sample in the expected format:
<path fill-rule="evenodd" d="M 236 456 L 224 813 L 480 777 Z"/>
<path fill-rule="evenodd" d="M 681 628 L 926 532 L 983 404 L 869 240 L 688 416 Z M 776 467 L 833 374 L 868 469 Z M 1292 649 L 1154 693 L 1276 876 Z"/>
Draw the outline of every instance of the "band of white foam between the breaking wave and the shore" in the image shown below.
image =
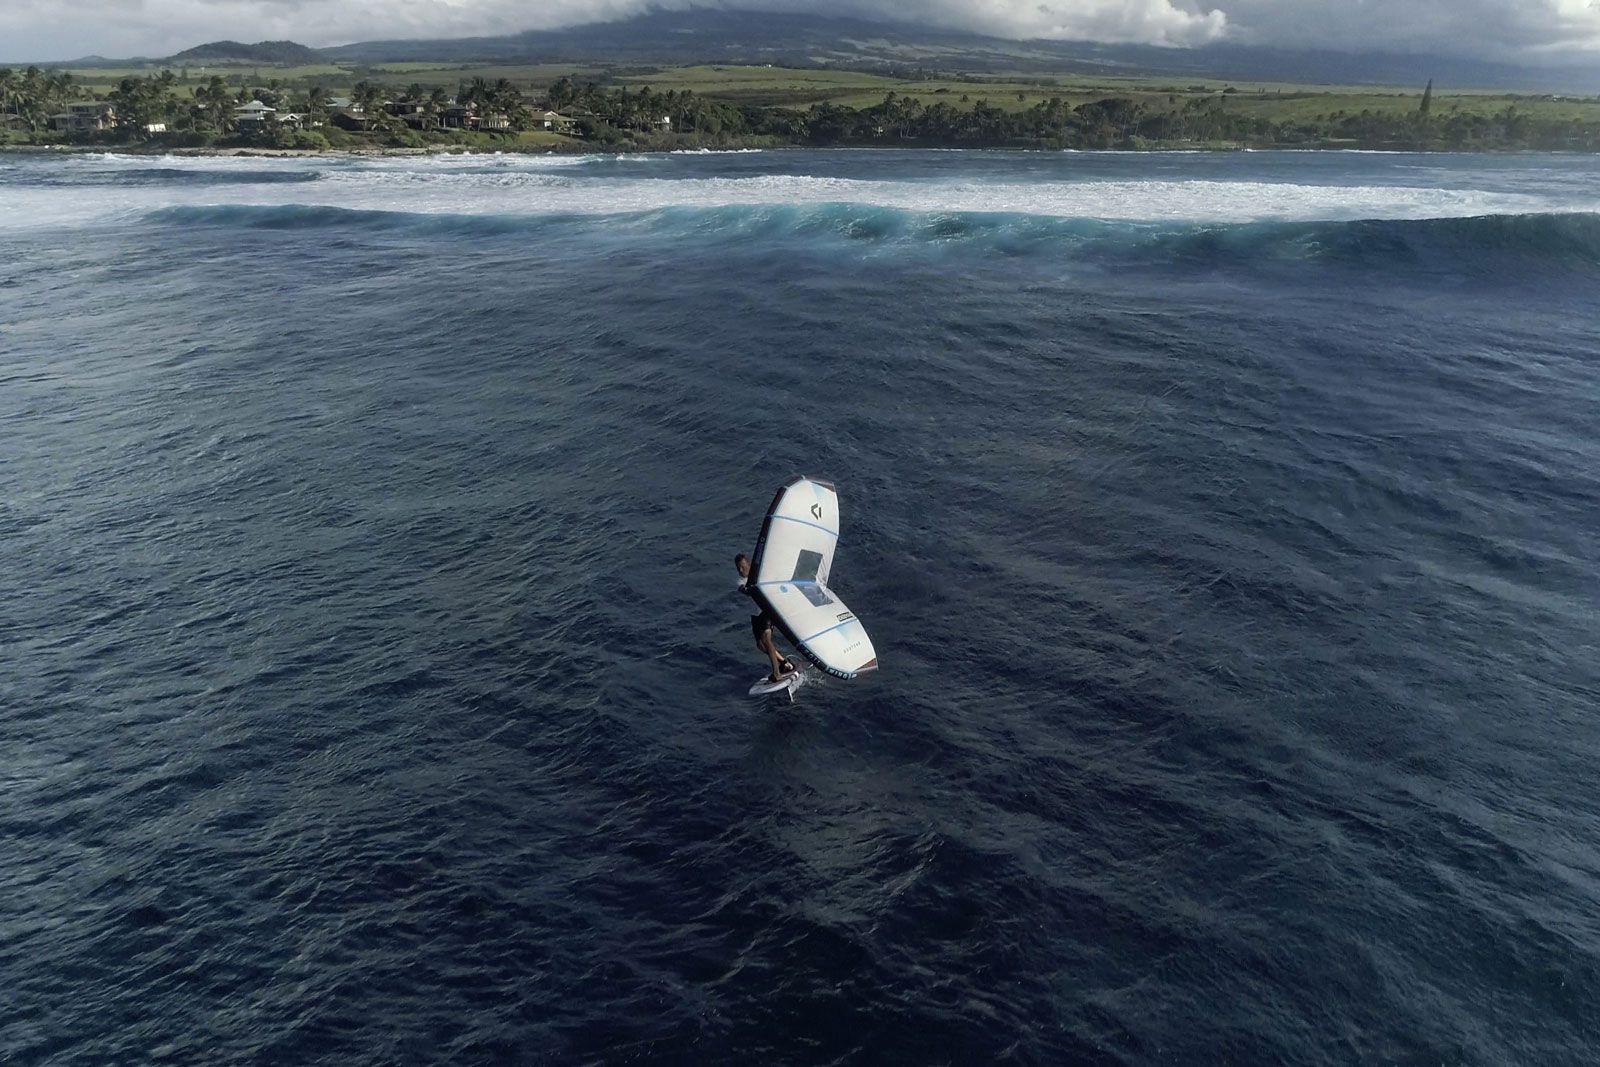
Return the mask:
<path fill-rule="evenodd" d="M 666 157 L 648 157 L 664 162 Z M 782 154 L 792 165 L 803 158 Z M 1531 192 L 1438 186 L 1341 186 L 1259 179 L 1078 178 L 1008 181 L 992 158 L 982 179 L 918 173 L 904 157 L 904 179 L 821 174 L 744 178 L 626 176 L 618 157 L 427 155 L 427 157 L 142 157 L 75 155 L 13 168 L 0 197 L 0 229 L 96 224 L 168 206 L 307 205 L 418 214 L 621 214 L 664 208 L 806 206 L 850 203 L 926 213 L 1014 213 L 1136 222 L 1250 222 L 1430 219 L 1538 211 L 1597 211 L 1600 194 L 1544 184 Z M 675 166 L 688 166 L 682 160 Z M 1139 163 L 1125 160 L 1130 174 Z M 58 170 L 59 168 L 59 170 Z M 19 171 L 58 178 L 85 171 L 163 168 L 307 174 L 312 181 L 237 181 L 216 186 L 162 182 L 30 186 Z M 1242 166 L 1242 170 L 1246 170 Z M 670 171 L 667 171 L 670 173 Z M 1536 171 L 1533 171 L 1536 173 Z M 688 171 L 693 174 L 693 171 Z M 1494 184 L 1485 181 L 1485 184 Z"/>

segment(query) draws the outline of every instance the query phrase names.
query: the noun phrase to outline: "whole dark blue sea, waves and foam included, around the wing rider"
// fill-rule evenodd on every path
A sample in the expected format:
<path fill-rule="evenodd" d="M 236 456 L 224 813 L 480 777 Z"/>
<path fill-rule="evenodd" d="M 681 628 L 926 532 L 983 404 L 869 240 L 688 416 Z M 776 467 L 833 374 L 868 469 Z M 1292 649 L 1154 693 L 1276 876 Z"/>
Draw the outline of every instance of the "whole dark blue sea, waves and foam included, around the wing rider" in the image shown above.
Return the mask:
<path fill-rule="evenodd" d="M 1594 1062 L 1597 182 L 0 160 L 0 1061 Z"/>

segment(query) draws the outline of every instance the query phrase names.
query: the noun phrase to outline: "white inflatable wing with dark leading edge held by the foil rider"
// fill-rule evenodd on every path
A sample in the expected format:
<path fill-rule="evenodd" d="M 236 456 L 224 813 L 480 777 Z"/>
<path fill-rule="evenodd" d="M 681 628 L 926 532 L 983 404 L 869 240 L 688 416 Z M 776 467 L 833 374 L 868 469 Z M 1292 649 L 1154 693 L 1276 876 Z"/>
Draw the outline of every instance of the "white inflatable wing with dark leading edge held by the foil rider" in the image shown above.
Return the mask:
<path fill-rule="evenodd" d="M 877 670 L 878 654 L 861 621 L 827 587 L 838 542 L 838 494 L 827 482 L 795 478 L 766 509 L 750 560 L 755 600 L 805 653 L 838 678 Z"/>

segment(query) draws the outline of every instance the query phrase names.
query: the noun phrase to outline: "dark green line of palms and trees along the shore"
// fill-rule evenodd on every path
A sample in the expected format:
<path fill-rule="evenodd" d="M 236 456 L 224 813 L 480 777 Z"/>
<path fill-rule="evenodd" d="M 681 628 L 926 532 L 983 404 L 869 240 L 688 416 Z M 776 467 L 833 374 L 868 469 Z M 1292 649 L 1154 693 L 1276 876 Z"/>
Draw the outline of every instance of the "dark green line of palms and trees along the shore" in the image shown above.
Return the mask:
<path fill-rule="evenodd" d="M 0 117 L 13 115 L 34 134 L 48 134 L 50 115 L 83 93 L 66 72 L 38 67 L 0 69 Z M 357 82 L 350 102 L 362 126 L 394 142 L 438 131 L 451 107 L 470 107 L 496 117 L 496 130 L 517 133 L 541 125 L 550 109 L 570 117 L 573 130 L 600 146 L 654 147 L 667 144 L 814 144 L 814 146 L 962 146 L 1139 149 L 1198 146 L 1358 146 L 1408 149 L 1570 149 L 1600 150 L 1600 122 L 1552 118 L 1515 102 L 1493 114 L 1440 112 L 1432 83 L 1414 110 L 1338 110 L 1310 118 L 1270 120 L 1240 106 L 1227 93 L 1110 96 L 1072 104 L 1059 96 L 1030 107 L 1003 109 L 987 99 L 939 99 L 888 93 L 869 107 L 813 104 L 781 107 L 728 104 L 688 90 L 602 86 L 558 78 L 533 93 L 507 78 L 462 80 L 456 91 L 411 83 Z M 291 88 L 278 80 L 259 86 L 229 86 L 210 77 L 186 86 L 171 70 L 122 78 L 104 102 L 115 114 L 112 136 L 138 138 L 154 123 L 174 134 L 238 136 L 234 109 L 259 99 L 282 112 L 326 123 L 333 94 L 312 83 Z M 397 106 L 398 104 L 398 106 Z M 254 138 L 283 133 L 272 123 L 253 128 Z M 296 134 L 299 136 L 299 133 Z M 320 138 L 320 134 L 317 134 Z"/>

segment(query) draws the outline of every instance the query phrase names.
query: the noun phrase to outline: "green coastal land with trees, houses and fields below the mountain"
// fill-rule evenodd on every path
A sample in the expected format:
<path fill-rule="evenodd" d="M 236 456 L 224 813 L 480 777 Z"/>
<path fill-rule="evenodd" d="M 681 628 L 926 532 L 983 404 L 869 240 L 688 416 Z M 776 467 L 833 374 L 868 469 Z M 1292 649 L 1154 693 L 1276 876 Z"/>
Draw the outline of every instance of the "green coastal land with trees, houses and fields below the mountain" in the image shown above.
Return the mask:
<path fill-rule="evenodd" d="M 1430 82 L 1402 91 L 923 69 L 211 62 L 198 72 L 0 69 L 0 142 L 1600 150 L 1600 99 L 1445 93 Z"/>

